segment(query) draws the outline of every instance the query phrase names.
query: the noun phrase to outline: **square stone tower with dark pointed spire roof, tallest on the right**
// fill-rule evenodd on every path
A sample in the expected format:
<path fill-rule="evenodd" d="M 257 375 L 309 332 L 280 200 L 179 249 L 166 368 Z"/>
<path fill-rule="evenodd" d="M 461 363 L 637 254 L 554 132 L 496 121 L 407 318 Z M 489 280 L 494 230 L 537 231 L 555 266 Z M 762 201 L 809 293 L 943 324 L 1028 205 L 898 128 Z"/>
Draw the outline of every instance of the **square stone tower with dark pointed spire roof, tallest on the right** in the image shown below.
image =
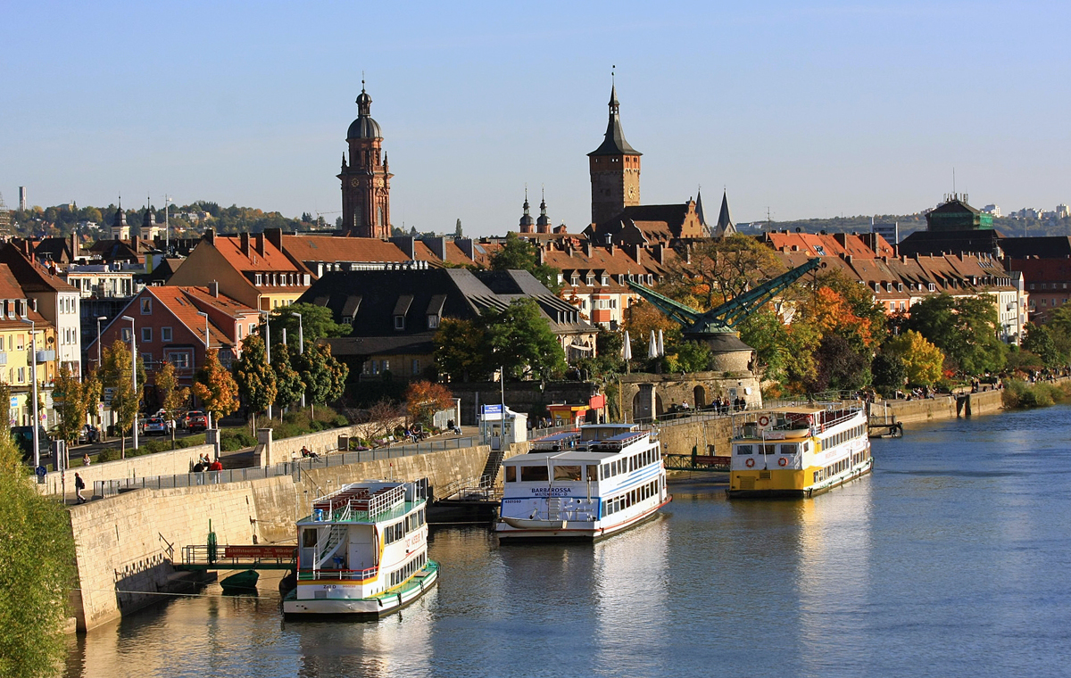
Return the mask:
<path fill-rule="evenodd" d="M 639 205 L 639 156 L 629 146 L 618 115 L 617 87 L 610 87 L 609 121 L 602 145 L 588 153 L 591 174 L 591 223 L 603 224 L 627 207 Z"/>

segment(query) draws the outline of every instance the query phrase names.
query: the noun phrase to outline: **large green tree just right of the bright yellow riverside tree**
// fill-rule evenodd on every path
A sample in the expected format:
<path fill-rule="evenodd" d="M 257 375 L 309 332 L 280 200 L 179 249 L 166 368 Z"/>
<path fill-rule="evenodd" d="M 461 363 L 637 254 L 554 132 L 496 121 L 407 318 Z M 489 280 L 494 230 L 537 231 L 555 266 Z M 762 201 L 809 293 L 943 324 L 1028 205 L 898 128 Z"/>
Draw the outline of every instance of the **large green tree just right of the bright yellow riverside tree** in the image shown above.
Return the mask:
<path fill-rule="evenodd" d="M 952 298 L 942 293 L 911 306 L 908 329 L 944 351 L 963 374 L 997 372 L 1007 348 L 997 338 L 1000 327 L 990 297 Z"/>

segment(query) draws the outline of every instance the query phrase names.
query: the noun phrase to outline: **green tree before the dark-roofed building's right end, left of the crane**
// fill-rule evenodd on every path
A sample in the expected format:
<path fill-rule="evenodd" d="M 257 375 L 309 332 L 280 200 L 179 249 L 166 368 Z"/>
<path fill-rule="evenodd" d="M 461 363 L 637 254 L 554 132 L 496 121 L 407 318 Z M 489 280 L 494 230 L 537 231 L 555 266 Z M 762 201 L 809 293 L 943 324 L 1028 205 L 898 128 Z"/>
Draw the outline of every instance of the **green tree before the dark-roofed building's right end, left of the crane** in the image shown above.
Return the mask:
<path fill-rule="evenodd" d="M 488 306 L 481 319 L 487 331 L 492 364 L 502 366 L 507 374 L 548 378 L 565 368 L 565 352 L 533 299 L 514 299 L 502 310 Z"/>

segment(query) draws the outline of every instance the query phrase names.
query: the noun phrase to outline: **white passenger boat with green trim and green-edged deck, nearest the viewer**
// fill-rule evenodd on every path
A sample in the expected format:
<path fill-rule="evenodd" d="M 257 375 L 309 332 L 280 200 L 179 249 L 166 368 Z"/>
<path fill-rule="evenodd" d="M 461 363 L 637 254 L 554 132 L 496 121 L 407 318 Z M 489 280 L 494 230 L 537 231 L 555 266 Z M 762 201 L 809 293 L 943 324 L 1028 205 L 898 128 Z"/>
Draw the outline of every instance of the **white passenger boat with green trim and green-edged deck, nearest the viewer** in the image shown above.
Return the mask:
<path fill-rule="evenodd" d="M 364 481 L 312 503 L 298 521 L 297 587 L 286 617 L 381 617 L 438 579 L 427 558 L 426 482 Z"/>

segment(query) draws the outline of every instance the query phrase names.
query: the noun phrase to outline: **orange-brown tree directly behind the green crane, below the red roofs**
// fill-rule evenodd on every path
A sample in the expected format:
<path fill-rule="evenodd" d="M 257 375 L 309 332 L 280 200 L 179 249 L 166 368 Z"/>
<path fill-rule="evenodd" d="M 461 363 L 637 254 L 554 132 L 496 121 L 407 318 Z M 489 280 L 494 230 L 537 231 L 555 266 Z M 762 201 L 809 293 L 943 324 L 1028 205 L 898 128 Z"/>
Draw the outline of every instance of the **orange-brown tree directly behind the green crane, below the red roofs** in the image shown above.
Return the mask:
<path fill-rule="evenodd" d="M 694 245 L 687 259 L 669 267 L 660 289 L 682 302 L 681 295 L 691 295 L 699 310 L 707 311 L 784 270 L 772 250 L 750 236 L 734 233 Z"/>

